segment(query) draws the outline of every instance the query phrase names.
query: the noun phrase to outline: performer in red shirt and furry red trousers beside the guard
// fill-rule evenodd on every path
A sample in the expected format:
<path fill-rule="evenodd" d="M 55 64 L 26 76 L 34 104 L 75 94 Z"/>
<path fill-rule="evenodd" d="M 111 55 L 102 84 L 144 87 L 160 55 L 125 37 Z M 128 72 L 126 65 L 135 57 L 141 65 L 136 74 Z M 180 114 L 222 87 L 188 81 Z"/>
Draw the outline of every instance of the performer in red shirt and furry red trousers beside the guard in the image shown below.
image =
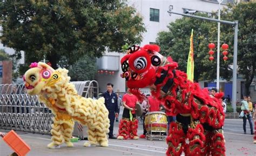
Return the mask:
<path fill-rule="evenodd" d="M 135 106 L 139 104 L 138 99 L 134 96 L 130 89 L 123 96 L 123 117 L 120 120 L 117 139 L 139 139 L 137 135 L 138 120 L 136 119 Z"/>

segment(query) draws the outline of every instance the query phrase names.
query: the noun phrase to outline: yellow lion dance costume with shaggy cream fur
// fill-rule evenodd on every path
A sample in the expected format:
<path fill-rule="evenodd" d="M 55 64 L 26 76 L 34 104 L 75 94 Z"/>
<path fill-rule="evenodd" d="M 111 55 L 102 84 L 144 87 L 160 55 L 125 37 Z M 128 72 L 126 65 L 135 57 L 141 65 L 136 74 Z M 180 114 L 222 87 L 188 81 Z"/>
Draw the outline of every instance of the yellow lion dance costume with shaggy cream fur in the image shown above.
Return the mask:
<path fill-rule="evenodd" d="M 42 62 L 31 63 L 30 68 L 23 76 L 28 94 L 37 94 L 39 101 L 55 115 L 51 125 L 52 143 L 48 147 L 57 148 L 63 142 L 73 147 L 70 139 L 74 120 L 88 127 L 89 143 L 84 146 L 108 146 L 110 121 L 104 98 L 92 100 L 78 96 L 66 69 L 54 70 Z"/>

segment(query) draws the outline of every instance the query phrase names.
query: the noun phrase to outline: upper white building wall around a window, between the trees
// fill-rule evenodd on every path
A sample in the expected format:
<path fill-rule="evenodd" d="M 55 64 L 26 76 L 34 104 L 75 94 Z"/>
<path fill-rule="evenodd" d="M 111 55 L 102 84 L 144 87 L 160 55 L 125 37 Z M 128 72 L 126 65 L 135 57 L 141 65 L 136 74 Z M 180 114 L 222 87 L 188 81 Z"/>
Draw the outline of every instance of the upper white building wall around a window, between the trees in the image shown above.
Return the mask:
<path fill-rule="evenodd" d="M 180 15 L 174 14 L 169 16 L 169 13 L 167 12 L 169 10 L 169 5 L 173 5 L 173 12 L 179 13 L 183 13 L 183 8 L 204 12 L 212 12 L 213 10 L 218 10 L 217 3 L 204 2 L 200 0 L 130 0 L 128 1 L 128 4 L 136 8 L 137 11 L 140 12 L 143 16 L 147 32 L 145 32 L 143 35 L 144 39 L 141 45 L 149 44 L 150 42 L 156 42 L 158 32 L 167 31 L 167 25 L 169 25 L 170 22 L 174 22 L 176 19 L 182 17 Z M 226 5 L 221 5 L 221 7 L 223 6 Z M 159 9 L 159 22 L 150 21 L 150 8 Z"/>

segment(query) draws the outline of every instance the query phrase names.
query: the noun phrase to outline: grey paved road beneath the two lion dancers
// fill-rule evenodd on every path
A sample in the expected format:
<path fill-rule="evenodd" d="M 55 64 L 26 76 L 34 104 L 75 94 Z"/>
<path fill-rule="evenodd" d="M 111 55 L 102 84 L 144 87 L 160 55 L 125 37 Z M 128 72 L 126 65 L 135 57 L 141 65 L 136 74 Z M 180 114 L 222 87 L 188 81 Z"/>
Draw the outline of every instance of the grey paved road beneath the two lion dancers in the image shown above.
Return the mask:
<path fill-rule="evenodd" d="M 247 123 L 248 124 L 248 123 Z M 247 132 L 250 132 L 247 125 Z M 142 134 L 142 125 L 139 125 L 138 134 Z M 256 155 L 256 144 L 253 144 L 253 135 L 243 134 L 241 119 L 226 119 L 224 126 L 226 139 L 226 155 Z M 1 131 L 1 130 L 0 130 Z M 2 130 L 4 131 L 4 130 Z M 117 134 L 118 123 L 114 125 Z M 165 155 L 166 143 L 164 140 L 109 140 L 109 147 L 83 147 L 84 141 L 75 143 L 75 147 L 49 149 L 49 135 L 18 132 L 31 146 L 30 155 Z M 11 149 L 0 139 L 0 155 L 10 154 Z"/>

